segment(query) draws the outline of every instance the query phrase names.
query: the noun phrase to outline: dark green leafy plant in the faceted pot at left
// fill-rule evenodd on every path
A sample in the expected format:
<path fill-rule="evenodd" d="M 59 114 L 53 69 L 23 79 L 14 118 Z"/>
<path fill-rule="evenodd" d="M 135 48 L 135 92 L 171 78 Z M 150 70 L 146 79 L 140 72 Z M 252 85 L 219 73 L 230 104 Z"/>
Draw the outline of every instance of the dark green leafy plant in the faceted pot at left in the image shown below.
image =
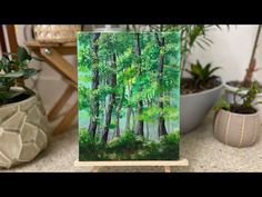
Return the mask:
<path fill-rule="evenodd" d="M 28 68 L 29 62 L 39 58 L 32 57 L 23 47 L 19 47 L 17 53 L 3 53 L 0 59 L 0 105 L 10 104 L 18 100 L 22 95 L 31 96 L 34 92 L 21 83 L 40 70 Z M 24 91 L 13 89 L 22 87 Z"/>

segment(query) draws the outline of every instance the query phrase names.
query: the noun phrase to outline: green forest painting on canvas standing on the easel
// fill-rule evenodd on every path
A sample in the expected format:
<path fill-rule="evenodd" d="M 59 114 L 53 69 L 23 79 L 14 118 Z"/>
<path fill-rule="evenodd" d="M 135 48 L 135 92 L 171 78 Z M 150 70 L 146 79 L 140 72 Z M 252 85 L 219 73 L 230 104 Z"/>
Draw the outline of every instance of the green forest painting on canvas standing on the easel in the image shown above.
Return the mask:
<path fill-rule="evenodd" d="M 178 160 L 180 32 L 79 32 L 79 160 Z"/>

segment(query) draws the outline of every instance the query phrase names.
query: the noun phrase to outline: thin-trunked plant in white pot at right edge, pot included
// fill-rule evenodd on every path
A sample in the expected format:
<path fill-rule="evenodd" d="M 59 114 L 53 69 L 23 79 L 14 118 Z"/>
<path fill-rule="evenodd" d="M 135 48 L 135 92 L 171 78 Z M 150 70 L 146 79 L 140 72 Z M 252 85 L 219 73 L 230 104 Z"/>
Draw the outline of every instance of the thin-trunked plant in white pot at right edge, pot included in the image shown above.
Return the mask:
<path fill-rule="evenodd" d="M 251 87 L 252 82 L 255 81 L 254 72 L 259 70 L 259 68 L 256 67 L 255 52 L 256 52 L 256 48 L 258 48 L 259 38 L 261 35 L 261 27 L 262 27 L 261 24 L 259 24 L 259 27 L 258 27 L 258 31 L 256 31 L 249 67 L 246 68 L 245 76 L 243 77 L 243 80 L 242 81 L 231 80 L 231 81 L 225 82 L 225 85 L 224 85 L 225 86 L 225 99 L 231 104 L 233 104 L 234 100 L 236 100 L 239 104 L 242 104 L 243 102 L 242 96 L 246 95 L 248 89 Z M 259 88 L 262 89 L 262 86 L 259 85 Z M 238 89 L 241 89 L 241 91 L 238 91 Z M 259 100 L 262 100 L 261 90 L 256 93 L 254 101 L 259 101 Z M 262 110 L 261 110 L 262 105 L 258 105 L 255 107 L 256 107 L 256 109 L 259 109 L 260 117 L 262 118 Z"/>

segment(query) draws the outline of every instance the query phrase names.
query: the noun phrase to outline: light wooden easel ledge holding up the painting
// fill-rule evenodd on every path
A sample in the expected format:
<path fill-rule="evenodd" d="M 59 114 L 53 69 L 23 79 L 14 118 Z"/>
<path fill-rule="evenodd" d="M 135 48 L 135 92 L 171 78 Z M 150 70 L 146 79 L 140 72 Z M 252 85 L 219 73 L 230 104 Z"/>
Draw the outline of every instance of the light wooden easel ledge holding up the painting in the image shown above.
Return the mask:
<path fill-rule="evenodd" d="M 98 173 L 99 167 L 134 167 L 134 166 L 143 166 L 143 167 L 164 167 L 165 173 L 171 173 L 171 167 L 185 167 L 189 166 L 188 159 L 180 160 L 145 160 L 145 161 L 74 161 L 74 166 L 78 167 L 93 167 L 93 173 Z"/>

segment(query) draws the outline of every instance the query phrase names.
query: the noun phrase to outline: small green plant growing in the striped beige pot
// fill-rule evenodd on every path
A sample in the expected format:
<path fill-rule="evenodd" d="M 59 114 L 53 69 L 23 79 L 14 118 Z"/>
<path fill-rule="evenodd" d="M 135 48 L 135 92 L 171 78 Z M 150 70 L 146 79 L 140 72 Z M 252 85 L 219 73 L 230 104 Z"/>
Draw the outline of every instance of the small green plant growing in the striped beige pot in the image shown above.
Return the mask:
<path fill-rule="evenodd" d="M 244 95 L 240 95 L 241 91 L 246 90 L 243 88 L 238 89 L 234 92 L 234 102 L 230 104 L 225 100 L 224 96 L 214 105 L 213 109 L 218 112 L 220 109 L 224 109 L 231 112 L 236 114 L 253 114 L 256 110 L 254 106 L 258 104 L 262 104 L 262 101 L 255 101 L 256 95 L 260 92 L 260 87 L 256 81 L 251 83 L 251 87 L 248 89 L 248 92 Z M 235 99 L 236 96 L 240 96 L 242 102 L 239 104 Z"/>

